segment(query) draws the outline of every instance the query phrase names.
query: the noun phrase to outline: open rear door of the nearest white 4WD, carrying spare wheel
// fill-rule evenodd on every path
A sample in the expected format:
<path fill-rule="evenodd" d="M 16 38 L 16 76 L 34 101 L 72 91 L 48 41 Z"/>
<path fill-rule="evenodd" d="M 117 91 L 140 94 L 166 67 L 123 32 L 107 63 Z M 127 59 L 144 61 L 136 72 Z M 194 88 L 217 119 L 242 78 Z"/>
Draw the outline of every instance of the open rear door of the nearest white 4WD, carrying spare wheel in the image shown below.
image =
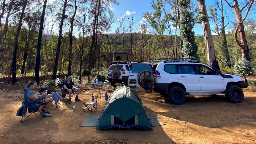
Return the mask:
<path fill-rule="evenodd" d="M 144 88 L 151 92 L 154 85 L 154 69 L 149 62 L 131 62 L 128 77 L 131 88 Z"/>

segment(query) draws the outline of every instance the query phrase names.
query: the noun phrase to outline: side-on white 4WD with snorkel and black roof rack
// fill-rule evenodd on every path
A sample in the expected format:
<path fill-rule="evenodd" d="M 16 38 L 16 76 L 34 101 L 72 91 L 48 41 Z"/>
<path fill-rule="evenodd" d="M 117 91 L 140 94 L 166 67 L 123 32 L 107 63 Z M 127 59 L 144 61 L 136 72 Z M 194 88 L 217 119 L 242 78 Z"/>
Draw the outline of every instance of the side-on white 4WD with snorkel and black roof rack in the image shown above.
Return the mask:
<path fill-rule="evenodd" d="M 170 102 L 181 105 L 186 100 L 186 95 L 214 95 L 225 94 L 233 103 L 242 102 L 244 93 L 241 88 L 247 88 L 248 83 L 240 76 L 222 74 L 206 64 L 196 63 L 195 59 L 189 60 L 163 60 L 153 65 L 155 68 L 155 83 L 153 91 L 163 96 L 168 96 Z M 181 62 L 184 61 L 184 62 Z"/>

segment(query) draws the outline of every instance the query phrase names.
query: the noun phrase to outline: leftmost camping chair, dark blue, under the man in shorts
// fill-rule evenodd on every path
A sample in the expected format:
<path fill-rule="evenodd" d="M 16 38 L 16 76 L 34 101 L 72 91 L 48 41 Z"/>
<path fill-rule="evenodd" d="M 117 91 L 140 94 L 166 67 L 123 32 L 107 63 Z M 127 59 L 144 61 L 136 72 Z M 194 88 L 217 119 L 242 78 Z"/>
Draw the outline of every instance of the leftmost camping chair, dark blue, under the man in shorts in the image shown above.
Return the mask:
<path fill-rule="evenodd" d="M 45 102 L 43 101 L 44 98 L 38 99 L 38 100 L 42 101 L 39 105 L 35 105 L 35 103 L 38 102 L 38 100 L 26 103 L 26 99 L 28 98 L 27 91 L 28 91 L 28 88 L 24 86 L 23 87 L 24 101 L 22 102 L 22 106 L 19 108 L 19 110 L 16 113 L 17 116 L 21 116 L 21 123 L 23 121 L 25 121 L 32 113 L 34 113 L 39 119 L 42 119 L 43 112 L 39 111 L 39 107 L 42 106 L 42 109 L 44 109 L 44 107 L 45 107 Z M 28 109 L 28 112 L 27 112 L 27 109 Z M 41 113 L 40 117 L 39 117 L 39 115 L 36 114 L 36 112 L 38 112 L 38 111 Z M 30 114 L 28 116 L 26 116 L 28 113 L 30 113 Z M 25 116 L 26 116 L 26 118 L 24 118 Z"/>

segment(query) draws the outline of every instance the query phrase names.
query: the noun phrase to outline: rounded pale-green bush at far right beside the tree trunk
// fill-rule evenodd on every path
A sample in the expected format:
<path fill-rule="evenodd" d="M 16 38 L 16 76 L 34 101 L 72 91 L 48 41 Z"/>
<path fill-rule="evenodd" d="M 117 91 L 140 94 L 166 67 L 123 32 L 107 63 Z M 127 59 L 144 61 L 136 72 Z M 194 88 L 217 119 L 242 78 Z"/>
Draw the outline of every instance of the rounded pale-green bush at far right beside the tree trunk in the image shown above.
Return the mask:
<path fill-rule="evenodd" d="M 253 66 L 252 63 L 246 61 L 245 58 L 240 58 L 234 65 L 234 72 L 236 75 L 252 75 Z"/>

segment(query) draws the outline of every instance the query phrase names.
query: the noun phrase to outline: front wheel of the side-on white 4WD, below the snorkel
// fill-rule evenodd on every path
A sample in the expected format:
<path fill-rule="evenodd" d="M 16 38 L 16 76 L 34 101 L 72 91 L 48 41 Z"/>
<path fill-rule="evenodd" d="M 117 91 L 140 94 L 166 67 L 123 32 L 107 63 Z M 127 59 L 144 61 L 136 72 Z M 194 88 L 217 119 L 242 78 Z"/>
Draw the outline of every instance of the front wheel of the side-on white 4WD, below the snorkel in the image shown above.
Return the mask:
<path fill-rule="evenodd" d="M 227 87 L 226 97 L 233 103 L 243 102 L 244 100 L 244 92 L 239 86 L 230 85 Z"/>

